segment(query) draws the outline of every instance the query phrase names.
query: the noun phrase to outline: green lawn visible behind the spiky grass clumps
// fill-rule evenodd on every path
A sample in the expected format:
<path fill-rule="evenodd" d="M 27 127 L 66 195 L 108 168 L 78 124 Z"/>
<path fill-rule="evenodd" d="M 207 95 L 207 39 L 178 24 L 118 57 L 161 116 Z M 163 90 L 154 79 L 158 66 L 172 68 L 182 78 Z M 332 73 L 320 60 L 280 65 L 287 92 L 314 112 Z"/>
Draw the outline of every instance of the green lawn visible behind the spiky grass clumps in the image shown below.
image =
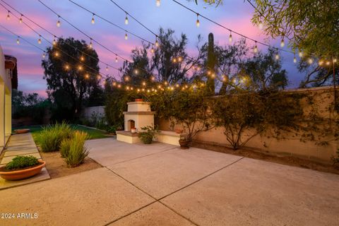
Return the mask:
<path fill-rule="evenodd" d="M 15 129 L 30 129 L 30 133 L 34 138 L 34 141 L 37 141 L 37 135 L 42 131 L 43 126 L 21 126 L 18 128 L 13 128 L 13 132 Z M 90 135 L 90 139 L 98 139 L 98 138 L 107 138 L 108 135 L 105 131 L 100 131 L 97 129 L 90 129 L 85 126 L 78 126 L 76 124 L 71 124 L 71 127 L 78 131 L 85 131 Z"/>

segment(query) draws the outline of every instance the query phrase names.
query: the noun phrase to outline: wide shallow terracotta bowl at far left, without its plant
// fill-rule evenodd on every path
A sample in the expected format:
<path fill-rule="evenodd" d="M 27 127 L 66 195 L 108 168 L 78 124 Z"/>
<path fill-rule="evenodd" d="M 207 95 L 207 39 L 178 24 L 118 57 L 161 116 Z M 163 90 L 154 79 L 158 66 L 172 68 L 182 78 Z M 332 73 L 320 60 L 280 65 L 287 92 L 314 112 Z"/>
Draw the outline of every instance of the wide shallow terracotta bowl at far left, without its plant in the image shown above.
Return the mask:
<path fill-rule="evenodd" d="M 25 179 L 28 177 L 33 177 L 34 175 L 40 173 L 42 167 L 46 165 L 46 162 L 38 160 L 40 165 L 27 168 L 27 169 L 17 169 L 13 171 L 0 171 L 0 176 L 8 181 L 16 181 L 19 179 Z"/>

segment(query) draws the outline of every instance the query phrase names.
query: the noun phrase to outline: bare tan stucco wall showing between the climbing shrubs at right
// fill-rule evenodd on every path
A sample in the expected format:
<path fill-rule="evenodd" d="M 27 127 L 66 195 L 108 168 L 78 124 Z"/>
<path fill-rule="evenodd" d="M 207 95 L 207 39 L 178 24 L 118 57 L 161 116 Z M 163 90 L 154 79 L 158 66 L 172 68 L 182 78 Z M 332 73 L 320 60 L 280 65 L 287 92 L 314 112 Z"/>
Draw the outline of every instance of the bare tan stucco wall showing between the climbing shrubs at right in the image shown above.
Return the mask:
<path fill-rule="evenodd" d="M 304 97 L 302 99 L 304 112 L 309 112 L 312 107 L 315 107 L 319 112 L 319 116 L 324 119 L 333 119 L 333 112 L 331 114 L 328 111 L 328 108 L 334 100 L 332 87 L 287 90 L 285 92 L 306 94 L 309 98 Z M 161 130 L 171 129 L 169 120 L 160 119 L 158 123 Z M 175 125 L 174 128 L 179 129 L 180 127 L 180 125 Z M 244 137 L 250 136 L 250 134 L 251 131 L 248 131 L 244 134 Z M 314 134 L 314 136 L 318 137 L 321 136 L 321 134 Z M 194 141 L 229 146 L 223 133 L 223 128 L 220 127 L 198 133 L 198 135 L 194 137 Z M 331 157 L 335 155 L 338 149 L 338 141 L 335 141 L 333 137 L 323 138 L 323 141 L 326 142 L 319 143 L 319 141 L 309 141 L 294 132 L 283 132 L 281 138 L 272 138 L 269 134 L 265 136 L 257 135 L 252 138 L 249 143 L 246 143 L 244 148 L 264 153 L 292 155 L 316 160 L 318 162 L 331 162 Z"/>

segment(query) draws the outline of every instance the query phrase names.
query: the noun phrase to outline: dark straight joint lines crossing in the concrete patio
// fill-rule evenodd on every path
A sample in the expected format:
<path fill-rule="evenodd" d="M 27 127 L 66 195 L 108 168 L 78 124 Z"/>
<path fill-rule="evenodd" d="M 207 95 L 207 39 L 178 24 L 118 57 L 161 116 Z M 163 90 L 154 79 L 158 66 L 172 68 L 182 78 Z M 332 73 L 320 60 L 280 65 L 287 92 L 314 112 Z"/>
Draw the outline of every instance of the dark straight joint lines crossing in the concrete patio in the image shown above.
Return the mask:
<path fill-rule="evenodd" d="M 172 150 L 172 149 L 174 149 L 174 148 L 170 148 L 170 149 L 168 149 L 168 150 Z M 162 152 L 165 152 L 165 151 L 167 151 L 167 150 L 164 150 L 164 151 L 162 151 Z M 154 154 L 156 154 L 156 153 L 153 153 L 153 154 L 150 154 L 150 155 L 154 155 Z M 145 155 L 145 156 L 148 156 L 148 155 Z M 143 157 L 145 157 L 145 156 L 143 156 Z M 138 158 L 141 158 L 141 157 L 138 157 Z M 133 214 L 133 213 L 136 213 L 136 212 L 138 212 L 139 210 L 142 210 L 143 208 L 146 208 L 146 207 L 152 205 L 153 203 L 157 203 L 157 202 L 158 202 L 158 203 L 162 204 L 163 206 L 165 206 L 166 208 L 169 208 L 169 210 L 172 210 L 174 213 L 177 213 L 177 215 L 179 215 L 179 216 L 181 216 L 182 218 L 188 220 L 188 221 L 191 222 L 193 225 L 200 226 L 200 225 L 198 225 L 196 222 L 192 221 L 191 219 L 186 218 L 184 215 L 178 213 L 178 212 L 177 212 L 176 210 L 174 210 L 173 208 L 170 208 L 169 206 L 167 206 L 165 203 L 162 202 L 162 199 L 164 199 L 164 198 L 166 198 L 166 197 L 168 197 L 168 196 L 170 196 L 170 195 L 172 195 L 172 194 L 174 194 L 174 193 L 177 193 L 178 191 L 181 191 L 182 189 L 186 189 L 187 187 L 189 187 L 189 186 L 191 186 L 191 185 L 193 185 L 193 184 L 196 184 L 197 182 L 200 182 L 201 180 L 205 179 L 206 177 L 210 177 L 211 175 L 213 175 L 213 174 L 219 172 L 220 170 L 225 169 L 225 168 L 227 168 L 227 167 L 230 167 L 231 165 L 233 165 L 233 164 L 239 162 L 239 161 L 242 160 L 242 159 L 244 159 L 244 157 L 240 157 L 238 160 L 235 160 L 234 162 L 231 162 L 230 164 L 227 164 L 227 165 L 225 165 L 224 167 L 221 167 L 220 169 L 217 169 L 217 170 L 215 170 L 214 172 L 211 172 L 210 174 L 207 174 L 206 176 L 201 177 L 200 179 L 197 179 L 196 181 L 194 181 L 194 182 L 192 182 L 192 183 L 190 183 L 190 184 L 187 184 L 186 186 L 183 186 L 182 188 L 177 189 L 176 191 L 173 191 L 173 192 L 169 193 L 169 194 L 167 194 L 166 196 L 162 196 L 161 198 L 155 198 L 155 197 L 153 197 L 151 194 L 148 194 L 146 191 L 143 191 L 143 189 L 141 189 L 141 188 L 139 188 L 138 186 L 136 186 L 136 184 L 133 184 L 132 182 L 129 182 L 129 180 L 127 180 L 126 178 L 122 177 L 120 174 L 117 174 L 117 172 L 114 172 L 112 169 L 109 169 L 108 167 L 105 167 L 106 169 L 108 169 L 108 170 L 111 171 L 112 173 L 116 174 L 116 175 L 117 175 L 118 177 L 120 177 L 121 179 L 124 179 L 124 181 L 126 181 L 126 182 L 128 182 L 129 184 L 131 184 L 132 186 L 136 187 L 136 189 L 142 191 L 144 194 L 146 194 L 146 195 L 150 196 L 150 198 L 153 198 L 153 199 L 154 199 L 154 201 L 148 203 L 147 205 L 141 206 L 141 208 L 138 208 L 137 210 L 134 210 L 134 211 L 132 211 L 131 213 L 127 213 L 126 215 L 123 215 L 123 216 L 121 216 L 120 218 L 117 218 L 117 219 L 115 219 L 115 220 L 112 220 L 111 222 L 108 222 L 106 225 L 110 225 L 110 224 L 112 224 L 113 222 L 117 222 L 118 220 L 121 220 L 122 218 L 126 218 L 127 216 L 129 216 L 129 215 L 131 215 L 131 214 Z"/>

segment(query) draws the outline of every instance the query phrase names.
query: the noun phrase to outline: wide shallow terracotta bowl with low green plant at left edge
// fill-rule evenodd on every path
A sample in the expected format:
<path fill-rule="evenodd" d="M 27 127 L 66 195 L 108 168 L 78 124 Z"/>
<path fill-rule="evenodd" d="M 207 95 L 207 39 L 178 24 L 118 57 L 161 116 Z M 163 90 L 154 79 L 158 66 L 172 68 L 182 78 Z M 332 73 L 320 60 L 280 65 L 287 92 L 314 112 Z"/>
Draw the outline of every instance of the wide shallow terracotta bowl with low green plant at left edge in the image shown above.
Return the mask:
<path fill-rule="evenodd" d="M 32 155 L 16 156 L 5 167 L 0 168 L 0 176 L 8 181 L 25 179 L 38 174 L 45 164 L 46 162 Z"/>

